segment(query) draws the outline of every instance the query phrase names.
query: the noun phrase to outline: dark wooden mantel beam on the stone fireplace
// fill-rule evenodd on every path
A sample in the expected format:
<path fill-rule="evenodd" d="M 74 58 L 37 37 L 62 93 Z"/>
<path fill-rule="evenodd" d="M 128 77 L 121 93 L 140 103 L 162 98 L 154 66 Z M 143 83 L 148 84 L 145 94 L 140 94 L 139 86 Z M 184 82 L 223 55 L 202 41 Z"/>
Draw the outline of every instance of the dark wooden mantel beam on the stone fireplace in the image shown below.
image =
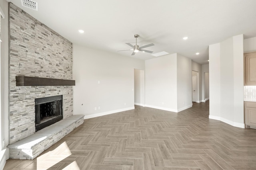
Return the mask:
<path fill-rule="evenodd" d="M 75 80 L 16 76 L 16 86 L 75 86 Z"/>

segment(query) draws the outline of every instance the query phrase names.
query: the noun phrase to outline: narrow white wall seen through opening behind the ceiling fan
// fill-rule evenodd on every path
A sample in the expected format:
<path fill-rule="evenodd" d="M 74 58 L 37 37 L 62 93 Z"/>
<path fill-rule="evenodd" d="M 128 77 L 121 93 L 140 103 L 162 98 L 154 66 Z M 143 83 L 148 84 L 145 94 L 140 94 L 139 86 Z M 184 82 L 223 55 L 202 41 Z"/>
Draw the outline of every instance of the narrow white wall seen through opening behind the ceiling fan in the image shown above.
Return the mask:
<path fill-rule="evenodd" d="M 145 106 L 144 70 L 134 69 L 134 104 Z"/>

